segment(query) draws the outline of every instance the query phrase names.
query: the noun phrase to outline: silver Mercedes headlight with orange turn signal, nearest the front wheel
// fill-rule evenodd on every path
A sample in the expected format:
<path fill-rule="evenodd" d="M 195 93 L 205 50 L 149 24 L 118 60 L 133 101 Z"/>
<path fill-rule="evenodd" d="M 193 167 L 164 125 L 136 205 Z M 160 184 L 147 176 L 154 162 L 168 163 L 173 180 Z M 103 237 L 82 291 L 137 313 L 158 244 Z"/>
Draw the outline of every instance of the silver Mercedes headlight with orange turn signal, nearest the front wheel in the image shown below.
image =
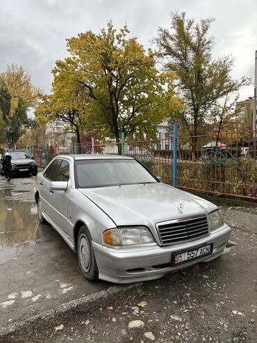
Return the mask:
<path fill-rule="evenodd" d="M 110 229 L 103 232 L 103 243 L 110 246 L 133 246 L 154 243 L 151 232 L 143 226 Z"/>

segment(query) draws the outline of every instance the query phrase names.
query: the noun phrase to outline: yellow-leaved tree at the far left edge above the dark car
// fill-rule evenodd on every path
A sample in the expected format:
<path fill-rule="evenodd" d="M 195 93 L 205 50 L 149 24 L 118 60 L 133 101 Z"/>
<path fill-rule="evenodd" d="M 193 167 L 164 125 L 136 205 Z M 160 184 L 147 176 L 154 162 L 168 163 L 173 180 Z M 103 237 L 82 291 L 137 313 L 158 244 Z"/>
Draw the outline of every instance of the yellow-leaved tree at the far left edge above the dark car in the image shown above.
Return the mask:
<path fill-rule="evenodd" d="M 38 93 L 39 88 L 32 85 L 23 67 L 12 64 L 0 73 L 0 122 L 11 146 L 24 133 L 29 122 L 27 112 L 35 106 Z"/>

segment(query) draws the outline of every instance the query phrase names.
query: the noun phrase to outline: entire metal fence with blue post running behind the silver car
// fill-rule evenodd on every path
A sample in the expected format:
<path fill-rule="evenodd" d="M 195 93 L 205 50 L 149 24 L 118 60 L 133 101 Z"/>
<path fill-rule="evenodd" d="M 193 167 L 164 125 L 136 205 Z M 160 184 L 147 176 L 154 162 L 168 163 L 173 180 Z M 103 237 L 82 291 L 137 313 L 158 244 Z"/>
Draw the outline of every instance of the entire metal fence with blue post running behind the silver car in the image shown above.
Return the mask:
<path fill-rule="evenodd" d="M 257 131 L 184 136 L 174 130 L 156 140 L 26 147 L 39 166 L 58 154 L 124 154 L 163 182 L 193 192 L 257 200 Z"/>

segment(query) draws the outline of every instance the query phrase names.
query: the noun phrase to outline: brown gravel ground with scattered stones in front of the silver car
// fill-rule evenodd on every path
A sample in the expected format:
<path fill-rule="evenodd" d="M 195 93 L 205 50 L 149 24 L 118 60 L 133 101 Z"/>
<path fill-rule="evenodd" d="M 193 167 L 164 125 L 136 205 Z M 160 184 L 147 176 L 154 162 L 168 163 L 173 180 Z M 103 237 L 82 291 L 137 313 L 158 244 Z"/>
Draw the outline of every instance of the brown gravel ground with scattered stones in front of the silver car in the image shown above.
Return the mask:
<path fill-rule="evenodd" d="M 0 342 L 256 342 L 257 236 L 233 228 L 231 241 L 213 262 L 35 321 Z"/>

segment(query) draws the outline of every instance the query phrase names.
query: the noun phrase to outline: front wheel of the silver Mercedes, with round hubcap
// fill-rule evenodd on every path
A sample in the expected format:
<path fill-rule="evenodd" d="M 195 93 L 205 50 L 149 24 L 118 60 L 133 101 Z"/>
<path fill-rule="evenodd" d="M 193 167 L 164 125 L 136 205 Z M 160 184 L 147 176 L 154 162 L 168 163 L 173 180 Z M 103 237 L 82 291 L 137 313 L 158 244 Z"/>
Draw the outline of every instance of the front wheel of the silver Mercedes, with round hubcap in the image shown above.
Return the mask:
<path fill-rule="evenodd" d="M 89 281 L 97 281 L 99 279 L 97 261 L 92 248 L 90 232 L 85 225 L 82 225 L 78 232 L 77 254 L 79 268 L 83 277 Z"/>

